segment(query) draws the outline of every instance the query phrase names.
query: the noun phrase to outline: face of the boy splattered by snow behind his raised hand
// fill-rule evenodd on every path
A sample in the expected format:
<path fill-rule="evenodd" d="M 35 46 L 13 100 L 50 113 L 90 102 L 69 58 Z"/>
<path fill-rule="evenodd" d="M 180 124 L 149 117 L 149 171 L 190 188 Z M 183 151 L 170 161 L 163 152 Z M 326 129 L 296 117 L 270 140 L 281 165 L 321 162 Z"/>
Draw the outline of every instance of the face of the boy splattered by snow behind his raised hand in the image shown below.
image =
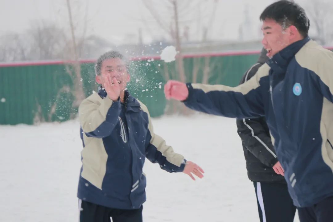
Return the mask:
<path fill-rule="evenodd" d="M 106 59 L 102 62 L 101 74 L 96 76 L 96 82 L 104 87 L 106 80 L 117 79 L 120 90 L 124 91 L 127 83 L 130 81 L 130 75 L 127 72 L 125 62 L 119 58 Z"/>

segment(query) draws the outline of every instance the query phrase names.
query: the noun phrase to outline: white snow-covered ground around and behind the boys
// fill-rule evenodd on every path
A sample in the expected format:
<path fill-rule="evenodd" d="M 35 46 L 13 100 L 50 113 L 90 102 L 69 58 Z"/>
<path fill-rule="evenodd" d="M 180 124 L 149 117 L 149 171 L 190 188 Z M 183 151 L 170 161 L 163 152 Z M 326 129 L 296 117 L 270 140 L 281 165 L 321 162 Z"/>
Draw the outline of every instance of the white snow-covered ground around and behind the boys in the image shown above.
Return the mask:
<path fill-rule="evenodd" d="M 200 114 L 153 123 L 167 144 L 205 174 L 192 181 L 147 160 L 145 222 L 259 221 L 234 119 Z M 81 149 L 76 120 L 0 125 L 0 221 L 77 221 Z"/>

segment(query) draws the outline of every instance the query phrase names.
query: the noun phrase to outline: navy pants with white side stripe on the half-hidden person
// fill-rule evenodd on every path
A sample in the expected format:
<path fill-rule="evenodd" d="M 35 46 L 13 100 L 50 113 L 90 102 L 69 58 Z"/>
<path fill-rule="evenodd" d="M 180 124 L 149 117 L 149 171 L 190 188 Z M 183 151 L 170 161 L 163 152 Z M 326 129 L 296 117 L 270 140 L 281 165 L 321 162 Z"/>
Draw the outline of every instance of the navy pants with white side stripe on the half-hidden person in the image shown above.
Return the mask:
<path fill-rule="evenodd" d="M 287 184 L 253 182 L 260 222 L 293 222 L 296 207 Z"/>

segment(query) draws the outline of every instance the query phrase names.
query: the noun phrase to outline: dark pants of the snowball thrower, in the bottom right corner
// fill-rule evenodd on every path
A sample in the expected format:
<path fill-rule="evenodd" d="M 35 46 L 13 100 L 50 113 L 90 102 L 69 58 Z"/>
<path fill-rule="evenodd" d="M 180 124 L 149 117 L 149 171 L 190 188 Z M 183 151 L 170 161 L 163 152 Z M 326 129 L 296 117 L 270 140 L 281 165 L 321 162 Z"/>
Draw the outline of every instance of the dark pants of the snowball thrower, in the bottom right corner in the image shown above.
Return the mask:
<path fill-rule="evenodd" d="M 333 196 L 310 207 L 298 207 L 300 222 L 332 222 Z"/>

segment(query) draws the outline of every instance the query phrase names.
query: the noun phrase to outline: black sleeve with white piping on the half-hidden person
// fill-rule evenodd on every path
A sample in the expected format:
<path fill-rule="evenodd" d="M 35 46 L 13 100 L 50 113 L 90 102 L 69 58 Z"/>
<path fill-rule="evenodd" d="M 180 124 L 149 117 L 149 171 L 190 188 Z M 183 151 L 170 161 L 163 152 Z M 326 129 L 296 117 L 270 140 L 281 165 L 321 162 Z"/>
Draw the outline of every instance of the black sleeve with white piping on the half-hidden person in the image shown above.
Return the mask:
<path fill-rule="evenodd" d="M 261 117 L 263 118 L 263 117 Z M 261 118 L 237 119 L 237 132 L 243 145 L 266 166 L 272 167 L 278 161 L 271 137 Z M 261 121 L 260 121 L 261 120 Z"/>

